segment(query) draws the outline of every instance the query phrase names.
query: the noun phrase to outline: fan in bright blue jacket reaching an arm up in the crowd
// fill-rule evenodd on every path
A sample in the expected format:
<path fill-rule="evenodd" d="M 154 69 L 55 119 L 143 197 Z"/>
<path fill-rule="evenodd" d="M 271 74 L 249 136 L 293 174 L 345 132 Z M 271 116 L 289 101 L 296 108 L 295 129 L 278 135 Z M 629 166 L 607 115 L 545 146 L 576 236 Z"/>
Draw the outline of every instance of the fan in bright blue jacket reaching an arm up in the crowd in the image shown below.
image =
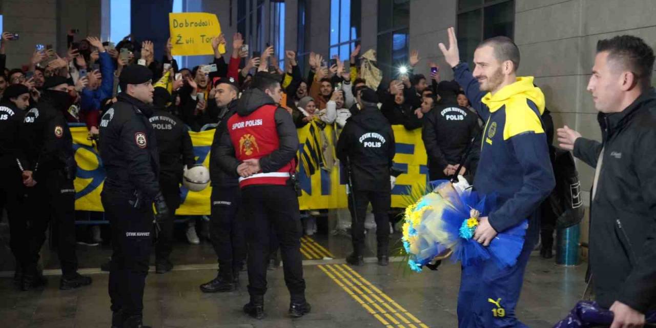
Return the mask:
<path fill-rule="evenodd" d="M 102 42 L 97 37 L 87 37 L 87 41 L 92 46 L 98 47 L 98 64 L 100 64 L 101 78 L 99 83 L 89 83 L 89 87 L 82 90 L 80 104 L 81 110 L 86 113 L 96 113 L 93 117 L 98 117 L 98 110 L 100 110 L 100 102 L 103 99 L 112 97 L 114 87 L 114 64 L 112 57 L 105 51 Z M 87 75 L 95 74 L 89 71 Z M 92 81 L 92 79 L 90 79 Z M 99 121 L 96 119 L 96 121 Z M 92 134 L 98 134 L 98 125 L 91 127 Z"/>

